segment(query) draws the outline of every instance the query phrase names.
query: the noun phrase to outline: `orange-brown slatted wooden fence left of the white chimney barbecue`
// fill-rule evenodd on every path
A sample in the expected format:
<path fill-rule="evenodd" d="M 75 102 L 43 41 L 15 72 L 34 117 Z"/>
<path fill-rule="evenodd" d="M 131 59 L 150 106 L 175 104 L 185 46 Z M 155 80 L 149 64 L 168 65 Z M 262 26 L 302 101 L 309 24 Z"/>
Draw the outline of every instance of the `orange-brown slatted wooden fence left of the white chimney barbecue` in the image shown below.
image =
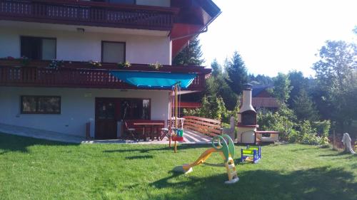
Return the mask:
<path fill-rule="evenodd" d="M 183 128 L 214 137 L 221 135 L 221 121 L 203 117 L 185 116 Z"/>

